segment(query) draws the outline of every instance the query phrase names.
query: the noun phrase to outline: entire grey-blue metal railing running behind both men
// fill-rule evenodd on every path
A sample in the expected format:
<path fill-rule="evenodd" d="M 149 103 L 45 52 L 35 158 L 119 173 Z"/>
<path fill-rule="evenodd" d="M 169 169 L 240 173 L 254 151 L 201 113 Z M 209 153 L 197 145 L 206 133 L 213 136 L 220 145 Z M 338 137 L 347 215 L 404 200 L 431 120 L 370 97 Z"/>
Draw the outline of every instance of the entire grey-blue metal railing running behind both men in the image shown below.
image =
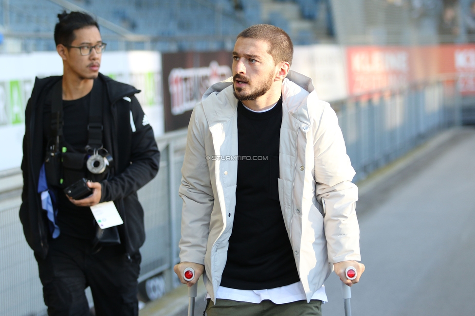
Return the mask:
<path fill-rule="evenodd" d="M 357 171 L 355 182 L 438 130 L 459 124 L 460 93 L 456 80 L 446 79 L 373 91 L 332 104 Z M 186 130 L 168 133 L 157 142 L 162 152 L 160 171 L 138 191 L 146 227 L 139 281 L 159 275 L 162 295 L 179 284 L 173 265 L 179 261 L 182 201 L 178 188 Z M 37 263 L 18 219 L 20 203 L 18 195 L 0 199 L 0 316 L 43 315 L 46 311 Z M 89 290 L 87 296 L 92 302 Z"/>

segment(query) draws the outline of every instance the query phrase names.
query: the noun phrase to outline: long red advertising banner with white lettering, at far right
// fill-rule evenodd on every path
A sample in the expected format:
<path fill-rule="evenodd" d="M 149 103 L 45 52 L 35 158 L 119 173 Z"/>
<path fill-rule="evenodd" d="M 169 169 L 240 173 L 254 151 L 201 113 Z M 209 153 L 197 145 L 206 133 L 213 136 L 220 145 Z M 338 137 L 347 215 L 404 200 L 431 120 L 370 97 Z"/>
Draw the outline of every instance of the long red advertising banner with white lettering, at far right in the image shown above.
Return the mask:
<path fill-rule="evenodd" d="M 462 94 L 475 94 L 475 45 L 347 47 L 349 95 L 405 86 L 441 74 L 458 76 Z"/>

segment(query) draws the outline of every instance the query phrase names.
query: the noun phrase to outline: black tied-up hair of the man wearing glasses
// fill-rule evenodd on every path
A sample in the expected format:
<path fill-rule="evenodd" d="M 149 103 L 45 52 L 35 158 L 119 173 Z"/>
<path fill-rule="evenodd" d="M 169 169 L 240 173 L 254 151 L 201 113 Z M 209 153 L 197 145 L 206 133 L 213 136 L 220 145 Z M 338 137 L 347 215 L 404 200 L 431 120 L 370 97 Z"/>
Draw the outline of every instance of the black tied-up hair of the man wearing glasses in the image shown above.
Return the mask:
<path fill-rule="evenodd" d="M 83 12 L 63 11 L 58 14 L 59 22 L 55 26 L 55 43 L 56 46 L 63 44 L 70 46 L 75 38 L 74 31 L 84 27 L 95 26 L 99 30 L 99 24 L 89 14 Z"/>

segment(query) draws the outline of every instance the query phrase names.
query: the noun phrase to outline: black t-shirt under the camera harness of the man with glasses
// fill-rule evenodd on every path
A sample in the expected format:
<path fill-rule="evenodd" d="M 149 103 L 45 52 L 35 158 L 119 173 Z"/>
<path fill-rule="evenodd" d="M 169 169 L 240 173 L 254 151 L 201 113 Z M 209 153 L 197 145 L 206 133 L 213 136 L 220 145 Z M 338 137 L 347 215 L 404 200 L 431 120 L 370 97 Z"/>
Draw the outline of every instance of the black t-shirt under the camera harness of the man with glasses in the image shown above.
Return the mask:
<path fill-rule="evenodd" d="M 69 149 L 85 153 L 88 144 L 89 106 L 91 93 L 72 101 L 63 100 L 63 135 Z M 43 136 L 46 144 L 51 134 L 51 105 L 43 111 Z M 86 174 L 84 173 L 84 177 Z M 62 188 L 57 195 L 57 225 L 61 234 L 92 240 L 95 236 L 95 220 L 88 207 L 78 207 L 71 203 Z"/>

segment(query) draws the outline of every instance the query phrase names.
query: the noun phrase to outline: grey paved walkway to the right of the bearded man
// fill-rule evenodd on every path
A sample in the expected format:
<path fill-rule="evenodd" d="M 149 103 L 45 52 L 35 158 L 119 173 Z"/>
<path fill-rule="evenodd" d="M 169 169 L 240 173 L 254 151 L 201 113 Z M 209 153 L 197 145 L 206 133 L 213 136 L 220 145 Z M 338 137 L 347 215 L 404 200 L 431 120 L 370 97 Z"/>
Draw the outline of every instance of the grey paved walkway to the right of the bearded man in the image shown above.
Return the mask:
<path fill-rule="evenodd" d="M 366 272 L 353 316 L 475 315 L 475 129 L 442 133 L 377 185 L 360 213 Z M 340 281 L 326 282 L 324 315 L 344 315 Z"/>

